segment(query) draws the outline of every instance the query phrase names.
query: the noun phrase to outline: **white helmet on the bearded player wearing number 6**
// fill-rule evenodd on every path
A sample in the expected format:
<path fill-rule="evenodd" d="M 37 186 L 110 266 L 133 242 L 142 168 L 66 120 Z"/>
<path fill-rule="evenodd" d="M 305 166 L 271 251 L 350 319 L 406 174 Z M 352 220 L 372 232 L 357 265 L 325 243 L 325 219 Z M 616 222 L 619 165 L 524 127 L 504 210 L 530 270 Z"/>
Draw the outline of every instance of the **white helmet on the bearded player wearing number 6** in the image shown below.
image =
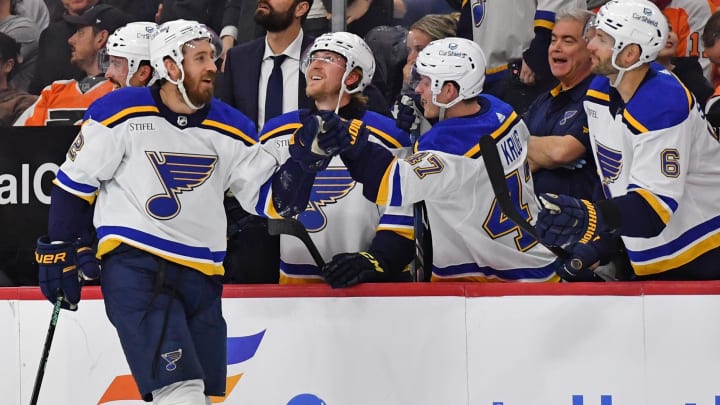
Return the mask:
<path fill-rule="evenodd" d="M 669 26 L 660 9 L 647 0 L 611 0 L 595 17 L 594 27 L 611 36 L 613 53 L 610 59 L 619 71 L 634 69 L 657 58 L 665 47 Z M 629 67 L 617 65 L 617 57 L 630 44 L 640 47 L 640 59 Z"/>

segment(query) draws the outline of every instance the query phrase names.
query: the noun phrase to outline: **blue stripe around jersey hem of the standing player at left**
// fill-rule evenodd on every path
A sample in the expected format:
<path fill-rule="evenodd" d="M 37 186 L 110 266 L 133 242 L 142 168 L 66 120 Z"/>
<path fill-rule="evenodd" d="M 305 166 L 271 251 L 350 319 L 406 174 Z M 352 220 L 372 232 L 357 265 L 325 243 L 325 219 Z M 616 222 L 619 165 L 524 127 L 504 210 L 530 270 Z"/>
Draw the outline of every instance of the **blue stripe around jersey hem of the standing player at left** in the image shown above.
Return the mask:
<path fill-rule="evenodd" d="M 221 265 L 225 259 L 225 251 L 213 252 L 207 247 L 188 246 L 124 226 L 101 226 L 97 229 L 97 235 L 98 239 L 116 235 L 189 260 L 210 261 L 215 265 Z"/>

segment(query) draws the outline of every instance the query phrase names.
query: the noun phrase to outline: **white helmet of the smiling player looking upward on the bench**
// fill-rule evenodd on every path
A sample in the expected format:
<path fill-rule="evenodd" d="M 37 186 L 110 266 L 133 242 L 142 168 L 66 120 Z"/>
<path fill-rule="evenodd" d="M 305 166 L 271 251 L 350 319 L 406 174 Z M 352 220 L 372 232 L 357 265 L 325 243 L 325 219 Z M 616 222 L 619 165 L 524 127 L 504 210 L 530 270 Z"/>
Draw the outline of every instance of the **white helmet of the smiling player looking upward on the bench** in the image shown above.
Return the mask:
<path fill-rule="evenodd" d="M 342 78 L 342 87 L 347 93 L 361 92 L 372 81 L 375 74 L 375 57 L 367 43 L 359 36 L 350 32 L 329 32 L 320 35 L 315 39 L 303 60 L 303 73 L 307 72 L 307 68 L 313 60 L 312 55 L 318 51 L 335 52 L 345 58 L 345 74 L 343 74 Z M 362 78 L 352 89 L 347 89 L 345 79 L 356 68 L 362 70 Z"/>

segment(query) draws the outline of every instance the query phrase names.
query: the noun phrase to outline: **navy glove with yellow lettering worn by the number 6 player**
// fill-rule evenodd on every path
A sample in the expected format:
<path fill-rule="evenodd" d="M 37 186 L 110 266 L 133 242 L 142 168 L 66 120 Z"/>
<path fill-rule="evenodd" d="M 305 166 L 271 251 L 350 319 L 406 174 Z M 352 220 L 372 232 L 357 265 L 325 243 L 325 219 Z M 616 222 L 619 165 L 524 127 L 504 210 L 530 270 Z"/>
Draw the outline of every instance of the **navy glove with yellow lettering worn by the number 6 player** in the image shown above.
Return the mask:
<path fill-rule="evenodd" d="M 543 193 L 535 228 L 543 243 L 563 246 L 588 243 L 600 232 L 610 233 L 596 205 L 567 195 Z"/>

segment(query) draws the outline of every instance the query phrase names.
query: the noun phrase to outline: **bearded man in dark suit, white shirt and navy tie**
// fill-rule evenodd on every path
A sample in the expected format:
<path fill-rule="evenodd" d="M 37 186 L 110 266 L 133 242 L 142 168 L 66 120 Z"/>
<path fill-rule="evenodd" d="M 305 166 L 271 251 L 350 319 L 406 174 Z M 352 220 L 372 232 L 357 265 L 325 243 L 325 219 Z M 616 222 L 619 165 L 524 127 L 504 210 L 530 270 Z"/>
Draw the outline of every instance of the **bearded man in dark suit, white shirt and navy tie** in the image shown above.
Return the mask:
<path fill-rule="evenodd" d="M 280 115 L 312 106 L 312 101 L 305 95 L 305 77 L 300 73 L 300 57 L 313 43 L 313 38 L 304 35 L 302 30 L 311 6 L 312 0 L 258 0 L 255 21 L 265 28 L 266 35 L 227 52 L 218 98 L 247 115 L 257 123 L 258 129 L 270 118 L 266 113 L 268 107 L 274 106 L 274 114 Z M 282 91 L 268 97 L 268 82 L 275 60 L 281 63 Z M 226 205 L 226 282 L 276 283 L 280 265 L 279 238 L 268 235 L 266 221 L 248 215 L 234 198 L 228 197 Z"/>

